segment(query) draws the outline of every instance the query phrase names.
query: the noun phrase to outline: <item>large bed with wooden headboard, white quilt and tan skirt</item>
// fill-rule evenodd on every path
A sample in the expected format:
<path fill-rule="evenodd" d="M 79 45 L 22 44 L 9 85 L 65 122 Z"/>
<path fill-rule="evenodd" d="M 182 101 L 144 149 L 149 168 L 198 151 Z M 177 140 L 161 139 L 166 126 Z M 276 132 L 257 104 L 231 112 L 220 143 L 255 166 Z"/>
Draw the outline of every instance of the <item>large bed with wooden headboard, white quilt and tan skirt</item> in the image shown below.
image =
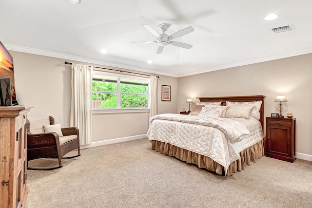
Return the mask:
<path fill-rule="evenodd" d="M 264 95 L 197 98 L 207 112 L 225 110 L 217 116 L 209 114 L 211 111 L 203 114 L 203 110 L 196 115 L 192 110 L 190 115 L 165 113 L 151 117 L 147 137 L 152 150 L 226 176 L 265 154 Z M 231 115 L 237 110 L 244 113 L 243 117 L 241 113 Z"/>

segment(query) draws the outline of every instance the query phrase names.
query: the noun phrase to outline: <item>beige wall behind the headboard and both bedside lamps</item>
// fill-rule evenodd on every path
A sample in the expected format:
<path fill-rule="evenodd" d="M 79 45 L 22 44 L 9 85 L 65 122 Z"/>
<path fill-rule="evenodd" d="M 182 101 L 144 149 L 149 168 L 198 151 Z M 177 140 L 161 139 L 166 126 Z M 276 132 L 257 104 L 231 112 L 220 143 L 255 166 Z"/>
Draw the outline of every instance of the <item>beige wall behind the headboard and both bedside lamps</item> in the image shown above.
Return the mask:
<path fill-rule="evenodd" d="M 271 116 L 279 104 L 274 99 L 285 95 L 282 113 L 296 117 L 296 152 L 312 156 L 312 54 L 180 77 L 178 86 L 178 111 L 188 108 L 187 98 L 265 95 L 264 113 Z"/>

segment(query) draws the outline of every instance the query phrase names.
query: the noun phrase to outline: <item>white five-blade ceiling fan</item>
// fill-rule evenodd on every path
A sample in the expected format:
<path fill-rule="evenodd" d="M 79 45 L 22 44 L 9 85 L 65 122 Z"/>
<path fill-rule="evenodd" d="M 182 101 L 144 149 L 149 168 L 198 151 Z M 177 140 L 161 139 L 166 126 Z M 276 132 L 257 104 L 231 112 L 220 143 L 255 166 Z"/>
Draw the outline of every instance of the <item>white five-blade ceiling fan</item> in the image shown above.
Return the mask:
<path fill-rule="evenodd" d="M 167 34 L 165 34 L 167 29 L 171 26 L 168 23 L 162 23 L 158 26 L 161 29 L 162 34 L 159 34 L 153 27 L 151 27 L 148 24 L 143 24 L 143 26 L 150 33 L 152 33 L 154 36 L 156 36 L 157 39 L 152 40 L 152 41 L 141 41 L 141 42 L 146 42 L 146 43 L 155 42 L 155 43 L 157 43 L 159 45 L 159 47 L 157 49 L 157 54 L 160 54 L 162 52 L 162 50 L 164 49 L 164 46 L 167 46 L 168 44 L 175 45 L 175 46 L 178 46 L 181 48 L 187 48 L 187 49 L 190 49 L 193 46 L 193 45 L 190 45 L 190 44 L 187 44 L 184 42 L 172 41 L 172 39 L 179 38 L 181 36 L 185 36 L 185 35 L 193 32 L 193 31 L 195 31 L 192 26 L 189 26 L 189 27 L 186 27 L 182 30 L 179 30 L 179 31 L 175 32 L 174 34 L 172 34 L 171 36 L 168 36 Z M 139 43 L 139 42 L 134 42 L 134 43 Z"/>

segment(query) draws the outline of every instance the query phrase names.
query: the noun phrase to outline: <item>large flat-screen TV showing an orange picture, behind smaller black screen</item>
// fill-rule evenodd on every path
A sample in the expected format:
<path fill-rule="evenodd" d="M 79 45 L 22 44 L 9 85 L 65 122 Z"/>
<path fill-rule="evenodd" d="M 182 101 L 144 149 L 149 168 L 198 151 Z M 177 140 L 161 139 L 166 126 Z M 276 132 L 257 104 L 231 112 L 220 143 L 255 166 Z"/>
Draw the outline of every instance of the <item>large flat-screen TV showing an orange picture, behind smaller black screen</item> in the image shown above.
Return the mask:
<path fill-rule="evenodd" d="M 12 100 L 16 100 L 13 57 L 0 41 L 0 78 L 10 78 Z"/>

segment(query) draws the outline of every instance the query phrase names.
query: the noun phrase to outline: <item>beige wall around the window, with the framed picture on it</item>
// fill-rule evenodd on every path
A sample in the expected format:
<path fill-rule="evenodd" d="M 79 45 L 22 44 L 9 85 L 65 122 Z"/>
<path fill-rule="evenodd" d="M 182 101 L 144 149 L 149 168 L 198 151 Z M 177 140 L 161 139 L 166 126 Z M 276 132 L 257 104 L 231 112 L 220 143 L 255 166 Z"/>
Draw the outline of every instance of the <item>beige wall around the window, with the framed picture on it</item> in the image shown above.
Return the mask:
<path fill-rule="evenodd" d="M 57 123 L 61 123 L 62 127 L 68 127 L 71 102 L 71 68 L 70 65 L 65 65 L 64 61 L 99 65 L 16 51 L 10 51 L 10 54 L 14 58 L 17 100 L 20 105 L 34 106 L 29 117 L 51 115 Z M 158 113 L 176 113 L 177 78 L 160 76 L 157 81 L 158 100 L 161 100 L 161 85 L 172 86 L 171 102 L 158 101 Z M 149 113 L 93 114 L 92 120 L 92 142 L 97 142 L 145 134 L 149 126 Z"/>

